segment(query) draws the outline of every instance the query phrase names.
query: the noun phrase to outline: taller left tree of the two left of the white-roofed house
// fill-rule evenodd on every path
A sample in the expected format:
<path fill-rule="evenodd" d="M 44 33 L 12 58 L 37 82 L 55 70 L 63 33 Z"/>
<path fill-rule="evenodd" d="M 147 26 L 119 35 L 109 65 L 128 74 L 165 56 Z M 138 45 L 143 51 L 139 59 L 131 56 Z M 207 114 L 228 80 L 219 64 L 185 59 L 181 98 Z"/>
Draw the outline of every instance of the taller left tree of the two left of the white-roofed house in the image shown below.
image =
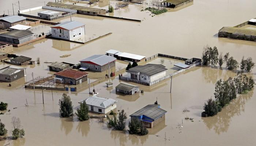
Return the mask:
<path fill-rule="evenodd" d="M 63 93 L 61 99 L 59 100 L 60 105 L 60 117 L 70 117 L 73 116 L 73 105 L 70 97 Z"/>

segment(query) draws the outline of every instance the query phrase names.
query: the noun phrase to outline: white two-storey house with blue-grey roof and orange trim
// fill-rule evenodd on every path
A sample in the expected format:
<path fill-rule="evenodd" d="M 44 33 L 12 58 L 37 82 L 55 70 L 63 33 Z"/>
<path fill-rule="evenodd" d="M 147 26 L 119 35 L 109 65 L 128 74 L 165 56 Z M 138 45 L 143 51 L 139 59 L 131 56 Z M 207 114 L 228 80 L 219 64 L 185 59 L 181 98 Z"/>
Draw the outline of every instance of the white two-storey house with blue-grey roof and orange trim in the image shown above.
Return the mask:
<path fill-rule="evenodd" d="M 51 28 L 53 38 L 77 41 L 77 39 L 85 35 L 84 24 L 77 21 L 63 22 Z"/>

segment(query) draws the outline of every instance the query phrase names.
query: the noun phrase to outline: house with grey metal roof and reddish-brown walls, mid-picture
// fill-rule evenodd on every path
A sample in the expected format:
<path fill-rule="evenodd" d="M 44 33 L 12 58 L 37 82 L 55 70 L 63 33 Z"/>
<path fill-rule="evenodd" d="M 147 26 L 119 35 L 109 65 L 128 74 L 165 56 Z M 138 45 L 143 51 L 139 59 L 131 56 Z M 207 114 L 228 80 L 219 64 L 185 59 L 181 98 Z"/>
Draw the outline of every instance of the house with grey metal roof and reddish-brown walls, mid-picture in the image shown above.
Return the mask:
<path fill-rule="evenodd" d="M 93 55 L 80 61 L 81 68 L 103 72 L 116 66 L 116 58 L 108 55 Z"/>

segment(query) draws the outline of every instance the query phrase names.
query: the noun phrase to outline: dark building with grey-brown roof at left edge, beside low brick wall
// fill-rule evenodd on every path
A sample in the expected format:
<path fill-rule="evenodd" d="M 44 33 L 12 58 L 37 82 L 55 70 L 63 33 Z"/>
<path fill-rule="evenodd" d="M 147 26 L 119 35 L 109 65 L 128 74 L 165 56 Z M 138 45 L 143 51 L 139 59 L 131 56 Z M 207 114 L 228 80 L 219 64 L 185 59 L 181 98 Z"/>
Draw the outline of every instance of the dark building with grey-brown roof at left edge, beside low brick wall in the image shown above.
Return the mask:
<path fill-rule="evenodd" d="M 32 39 L 33 33 L 29 30 L 14 30 L 0 34 L 0 41 L 11 44 L 25 43 Z"/>

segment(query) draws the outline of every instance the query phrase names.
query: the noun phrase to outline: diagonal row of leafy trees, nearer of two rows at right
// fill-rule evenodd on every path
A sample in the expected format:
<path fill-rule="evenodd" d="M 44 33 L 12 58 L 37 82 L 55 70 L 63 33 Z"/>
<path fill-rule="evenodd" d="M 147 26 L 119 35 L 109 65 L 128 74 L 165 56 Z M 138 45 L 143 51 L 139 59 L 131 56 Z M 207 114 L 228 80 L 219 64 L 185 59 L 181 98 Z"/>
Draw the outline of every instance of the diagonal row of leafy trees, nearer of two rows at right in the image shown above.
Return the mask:
<path fill-rule="evenodd" d="M 207 103 L 204 103 L 204 113 L 208 116 L 214 116 L 221 108 L 229 104 L 231 100 L 237 97 L 237 94 L 247 93 L 254 87 L 253 78 L 247 77 L 245 74 L 238 73 L 236 77 L 229 77 L 228 80 L 222 80 L 215 84 L 215 100 L 208 99 Z"/>

